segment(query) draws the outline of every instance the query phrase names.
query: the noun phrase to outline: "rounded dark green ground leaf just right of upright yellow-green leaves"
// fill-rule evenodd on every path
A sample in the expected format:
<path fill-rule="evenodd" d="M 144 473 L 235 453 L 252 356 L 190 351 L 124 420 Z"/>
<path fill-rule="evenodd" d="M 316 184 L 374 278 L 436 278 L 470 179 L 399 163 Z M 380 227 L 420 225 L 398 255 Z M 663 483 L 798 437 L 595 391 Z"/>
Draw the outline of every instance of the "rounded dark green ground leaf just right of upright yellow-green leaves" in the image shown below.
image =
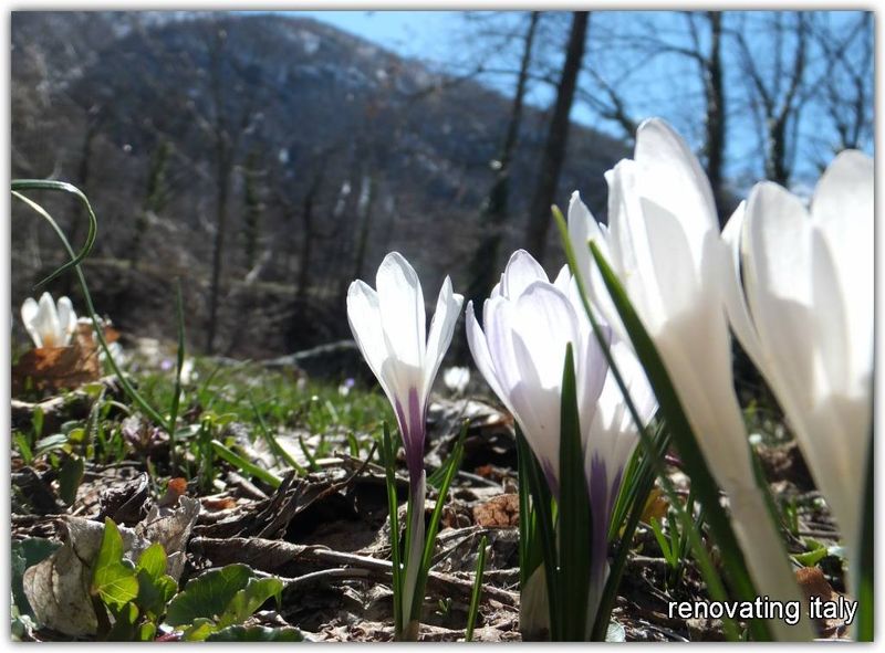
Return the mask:
<path fill-rule="evenodd" d="M 218 619 L 252 576 L 252 570 L 246 565 L 228 565 L 189 580 L 169 603 L 166 623 L 187 625 L 196 623 L 198 619 Z"/>

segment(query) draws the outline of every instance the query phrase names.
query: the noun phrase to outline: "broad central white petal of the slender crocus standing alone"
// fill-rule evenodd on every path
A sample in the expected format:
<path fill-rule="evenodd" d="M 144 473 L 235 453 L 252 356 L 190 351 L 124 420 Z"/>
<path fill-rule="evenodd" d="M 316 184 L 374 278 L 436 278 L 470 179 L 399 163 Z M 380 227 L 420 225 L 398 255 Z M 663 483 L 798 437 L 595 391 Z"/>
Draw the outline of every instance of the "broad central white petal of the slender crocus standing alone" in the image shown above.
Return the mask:
<path fill-rule="evenodd" d="M 384 257 L 375 280 L 384 335 L 389 350 L 404 365 L 420 369 L 427 347 L 421 284 L 402 254 Z"/>

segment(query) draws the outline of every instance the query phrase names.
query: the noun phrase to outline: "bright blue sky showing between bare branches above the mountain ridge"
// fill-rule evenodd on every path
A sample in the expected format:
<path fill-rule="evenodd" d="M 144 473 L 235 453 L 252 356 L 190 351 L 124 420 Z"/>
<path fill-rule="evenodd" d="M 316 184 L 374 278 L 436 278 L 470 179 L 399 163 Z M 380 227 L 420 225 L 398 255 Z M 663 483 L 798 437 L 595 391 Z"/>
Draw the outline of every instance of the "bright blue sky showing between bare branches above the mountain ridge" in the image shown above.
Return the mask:
<path fill-rule="evenodd" d="M 460 11 L 292 11 L 287 12 L 291 15 L 306 15 L 316 20 L 330 23 L 342 30 L 360 35 L 366 40 L 378 43 L 379 45 L 396 52 L 403 56 L 420 59 L 430 62 L 434 67 L 446 70 L 451 62 L 459 59 L 469 59 L 471 51 L 482 48 L 478 41 L 469 41 L 469 28 L 466 25 L 464 13 Z M 750 13 L 746 14 L 752 20 Z M 756 12 L 756 15 L 760 15 Z M 841 20 L 840 15 L 850 15 L 847 12 L 837 14 L 830 13 L 833 20 Z M 856 15 L 856 14 L 855 14 Z M 732 14 L 733 18 L 733 14 Z M 591 19 L 591 34 L 594 30 L 614 30 L 615 32 L 625 25 L 635 25 L 636 21 L 654 21 L 654 25 L 665 38 L 687 39 L 685 35 L 684 15 L 677 12 L 594 12 Z M 742 17 L 741 17 L 742 19 Z M 679 30 L 683 35 L 678 36 Z M 598 33 L 595 32 L 595 33 Z M 750 30 L 750 42 L 754 36 Z M 466 40 L 467 39 L 467 40 Z M 568 25 L 563 23 L 562 44 L 564 46 L 568 39 Z M 598 66 L 596 70 L 603 71 L 605 75 L 606 66 L 618 65 L 617 52 L 603 51 L 594 53 L 593 43 L 585 55 L 586 66 Z M 683 41 L 685 44 L 685 41 Z M 760 48 L 768 50 L 768 44 Z M 494 53 L 490 55 L 494 56 Z M 746 88 L 739 78 L 740 71 L 738 62 L 728 59 L 727 64 L 727 93 L 730 97 L 727 101 L 731 106 L 740 106 L 746 103 L 741 98 L 741 88 Z M 508 60 L 508 65 L 514 65 L 513 59 Z M 612 69 L 614 71 L 614 69 Z M 612 72 L 611 78 L 617 78 L 618 72 Z M 587 78 L 582 77 L 582 84 L 587 86 Z M 482 82 L 497 87 L 499 91 L 509 95 L 512 92 L 514 80 L 512 75 L 486 76 Z M 700 93 L 700 82 L 694 62 L 678 55 L 657 56 L 642 66 L 637 66 L 629 73 L 629 77 L 623 83 L 623 95 L 627 101 L 628 107 L 634 117 L 649 117 L 659 115 L 668 119 L 674 126 L 695 146 L 699 146 L 702 135 L 702 95 Z M 530 104 L 546 106 L 552 101 L 552 88 L 548 85 L 535 85 L 528 96 Z M 872 102 L 872 99 L 871 99 Z M 593 126 L 603 131 L 617 137 L 623 137 L 618 127 L 601 122 L 597 116 L 587 108 L 586 105 L 576 103 L 572 112 L 572 119 Z M 800 130 L 804 138 L 796 157 L 796 181 L 810 183 L 816 178 L 819 171 L 815 162 L 825 158 L 827 155 L 825 139 L 821 139 L 821 134 L 825 134 L 824 119 L 820 114 L 805 110 L 800 123 Z M 728 123 L 728 151 L 727 151 L 727 172 L 736 179 L 739 185 L 758 179 L 761 175 L 761 138 L 758 124 L 743 113 L 738 113 L 736 118 L 729 118 Z M 813 144 L 813 145 L 812 145 Z M 872 151 L 872 143 L 868 149 Z"/>

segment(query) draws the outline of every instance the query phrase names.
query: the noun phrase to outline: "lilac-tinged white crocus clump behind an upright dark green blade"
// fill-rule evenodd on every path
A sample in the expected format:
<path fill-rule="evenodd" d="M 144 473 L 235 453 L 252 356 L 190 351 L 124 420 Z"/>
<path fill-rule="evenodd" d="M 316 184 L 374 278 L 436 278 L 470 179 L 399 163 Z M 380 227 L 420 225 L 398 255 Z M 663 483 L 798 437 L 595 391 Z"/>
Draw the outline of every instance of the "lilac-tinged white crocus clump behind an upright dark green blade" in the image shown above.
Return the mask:
<path fill-rule="evenodd" d="M 467 305 L 467 339 L 473 360 L 513 413 L 554 495 L 560 487 L 562 370 L 566 346 L 572 345 L 593 522 L 589 613 L 595 615 L 607 573 L 608 525 L 624 470 L 638 442 L 636 424 L 608 373 L 568 266 L 551 283 L 528 252 L 516 252 L 485 303 L 482 316 L 480 328 L 472 302 Z M 645 372 L 624 343 L 611 347 L 647 423 L 657 404 Z"/>

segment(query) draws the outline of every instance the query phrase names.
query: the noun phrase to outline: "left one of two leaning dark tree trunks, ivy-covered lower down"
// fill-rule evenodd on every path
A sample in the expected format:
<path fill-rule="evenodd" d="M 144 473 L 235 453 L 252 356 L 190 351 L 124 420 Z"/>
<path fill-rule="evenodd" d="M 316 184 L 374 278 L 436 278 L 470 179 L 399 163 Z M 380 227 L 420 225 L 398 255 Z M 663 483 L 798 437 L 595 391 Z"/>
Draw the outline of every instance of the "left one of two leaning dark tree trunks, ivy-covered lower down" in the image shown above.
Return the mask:
<path fill-rule="evenodd" d="M 519 128 L 522 123 L 522 104 L 525 96 L 525 83 L 529 78 L 529 65 L 531 64 L 532 45 L 534 33 L 538 27 L 539 11 L 532 11 L 529 18 L 529 27 L 525 30 L 524 46 L 522 59 L 519 66 L 519 77 L 517 78 L 517 89 L 513 94 L 513 104 L 510 109 L 510 122 L 507 126 L 501 154 L 499 157 L 499 168 L 494 177 L 489 197 L 482 207 L 481 229 L 482 234 L 479 244 L 473 253 L 470 264 L 470 285 L 467 289 L 468 299 L 482 302 L 488 297 L 494 285 L 494 276 L 498 271 L 498 257 L 503 236 L 503 224 L 508 217 L 508 200 L 510 193 L 510 162 L 519 139 Z"/>

